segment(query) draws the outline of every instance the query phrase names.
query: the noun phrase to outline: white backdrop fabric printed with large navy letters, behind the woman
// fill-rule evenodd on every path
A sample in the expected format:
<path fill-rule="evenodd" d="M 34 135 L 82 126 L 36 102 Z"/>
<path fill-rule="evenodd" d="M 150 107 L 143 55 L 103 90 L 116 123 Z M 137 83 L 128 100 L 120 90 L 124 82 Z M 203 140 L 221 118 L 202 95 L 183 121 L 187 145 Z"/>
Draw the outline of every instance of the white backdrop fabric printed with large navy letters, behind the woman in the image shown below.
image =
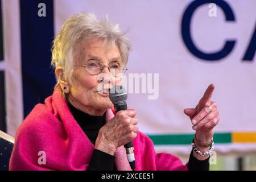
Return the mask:
<path fill-rule="evenodd" d="M 191 32 L 196 46 L 204 52 L 221 49 L 226 40 L 236 40 L 233 51 L 221 60 L 200 60 L 188 51 L 181 37 L 181 19 L 192 1 L 85 1 L 55 0 L 55 35 L 71 15 L 81 11 L 102 17 L 109 15 L 123 31 L 129 30 L 133 50 L 127 64 L 129 73 L 159 73 L 159 97 L 129 94 L 127 104 L 137 110 L 140 130 L 146 134 L 193 133 L 186 107 L 195 107 L 207 86 L 216 86 L 212 100 L 220 110 L 220 132 L 256 131 L 256 63 L 242 61 L 256 23 L 256 1 L 226 1 L 236 17 L 226 22 L 208 15 L 208 4 L 196 9 Z M 255 40 L 256 41 L 256 40 Z M 158 146 L 159 151 L 188 154 L 190 146 Z M 220 144 L 219 152 L 256 151 L 256 144 Z"/>

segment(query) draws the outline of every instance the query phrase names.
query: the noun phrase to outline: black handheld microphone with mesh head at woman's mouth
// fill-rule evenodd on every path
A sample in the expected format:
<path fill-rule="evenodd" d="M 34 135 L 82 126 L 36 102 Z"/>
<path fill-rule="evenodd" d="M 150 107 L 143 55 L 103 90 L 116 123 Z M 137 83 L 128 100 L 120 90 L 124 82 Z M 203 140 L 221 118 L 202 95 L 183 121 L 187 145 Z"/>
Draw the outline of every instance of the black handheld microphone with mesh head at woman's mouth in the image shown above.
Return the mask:
<path fill-rule="evenodd" d="M 127 105 L 126 105 L 126 100 L 127 100 L 127 92 L 126 89 L 122 85 L 116 85 L 114 86 L 109 93 L 109 98 L 110 101 L 114 105 L 115 113 L 119 110 L 126 110 Z M 131 169 L 133 171 L 135 170 L 135 156 L 134 156 L 134 148 L 133 148 L 133 142 L 129 142 L 124 145 L 126 154 L 127 154 L 127 159 L 130 164 Z"/>

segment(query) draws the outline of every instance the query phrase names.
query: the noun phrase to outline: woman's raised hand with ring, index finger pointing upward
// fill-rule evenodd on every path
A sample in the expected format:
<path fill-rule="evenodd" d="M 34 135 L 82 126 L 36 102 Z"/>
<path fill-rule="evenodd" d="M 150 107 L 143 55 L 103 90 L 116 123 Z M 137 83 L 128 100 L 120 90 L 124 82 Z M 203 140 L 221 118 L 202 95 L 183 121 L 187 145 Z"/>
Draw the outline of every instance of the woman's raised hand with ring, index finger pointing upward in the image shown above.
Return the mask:
<path fill-rule="evenodd" d="M 196 131 L 196 138 L 202 143 L 212 140 L 214 127 L 220 121 L 216 102 L 210 100 L 213 90 L 214 85 L 210 84 L 195 109 L 184 110 L 184 113 L 191 119 L 192 129 Z"/>

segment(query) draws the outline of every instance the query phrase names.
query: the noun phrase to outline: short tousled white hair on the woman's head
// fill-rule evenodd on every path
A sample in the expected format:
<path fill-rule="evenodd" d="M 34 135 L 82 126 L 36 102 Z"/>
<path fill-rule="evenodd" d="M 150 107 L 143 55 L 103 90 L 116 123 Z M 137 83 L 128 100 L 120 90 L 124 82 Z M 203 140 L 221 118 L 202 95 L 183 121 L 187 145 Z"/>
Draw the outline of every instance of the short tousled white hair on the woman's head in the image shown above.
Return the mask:
<path fill-rule="evenodd" d="M 80 13 L 68 18 L 53 40 L 52 66 L 64 68 L 64 79 L 72 84 L 74 48 L 84 39 L 101 38 L 110 46 L 119 48 L 122 64 L 126 65 L 130 53 L 130 41 L 121 32 L 119 24 L 109 23 L 108 15 L 98 20 L 93 13 Z M 59 81 L 56 86 L 59 85 Z"/>

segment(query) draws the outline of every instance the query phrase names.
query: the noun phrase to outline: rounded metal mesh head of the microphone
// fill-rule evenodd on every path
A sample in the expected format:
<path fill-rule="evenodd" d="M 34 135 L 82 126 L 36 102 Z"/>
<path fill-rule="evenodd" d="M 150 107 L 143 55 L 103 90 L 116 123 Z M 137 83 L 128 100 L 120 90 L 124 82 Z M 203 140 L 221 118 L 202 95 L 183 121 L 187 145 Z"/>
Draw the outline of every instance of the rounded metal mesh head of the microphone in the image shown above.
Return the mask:
<path fill-rule="evenodd" d="M 126 102 L 127 96 L 127 91 L 122 85 L 114 86 L 109 93 L 109 99 L 113 104 Z"/>

